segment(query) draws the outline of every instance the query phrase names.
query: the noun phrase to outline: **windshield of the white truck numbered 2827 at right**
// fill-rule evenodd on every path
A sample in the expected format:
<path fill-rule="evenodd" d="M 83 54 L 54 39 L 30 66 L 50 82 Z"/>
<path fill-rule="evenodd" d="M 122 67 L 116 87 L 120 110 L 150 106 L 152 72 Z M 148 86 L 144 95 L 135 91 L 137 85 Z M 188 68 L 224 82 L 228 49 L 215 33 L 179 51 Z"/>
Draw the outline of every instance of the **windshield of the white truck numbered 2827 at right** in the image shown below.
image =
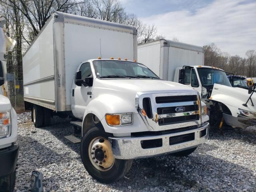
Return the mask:
<path fill-rule="evenodd" d="M 230 86 L 226 73 L 222 70 L 213 68 L 197 68 L 200 81 L 203 86 L 213 86 L 214 83 Z"/>

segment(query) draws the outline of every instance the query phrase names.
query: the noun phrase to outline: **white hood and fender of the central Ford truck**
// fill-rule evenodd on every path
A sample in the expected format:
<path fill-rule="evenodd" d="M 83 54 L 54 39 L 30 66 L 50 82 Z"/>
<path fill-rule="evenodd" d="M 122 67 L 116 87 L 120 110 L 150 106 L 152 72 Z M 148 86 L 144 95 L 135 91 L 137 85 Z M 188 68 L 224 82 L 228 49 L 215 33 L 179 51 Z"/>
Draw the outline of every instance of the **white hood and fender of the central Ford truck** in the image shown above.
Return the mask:
<path fill-rule="evenodd" d="M 88 110 L 94 111 L 98 118 L 104 113 L 138 113 L 135 106 L 137 93 L 141 92 L 195 92 L 192 88 L 182 84 L 150 79 L 94 79 L 92 100 Z M 97 106 L 97 107 L 96 107 Z"/>

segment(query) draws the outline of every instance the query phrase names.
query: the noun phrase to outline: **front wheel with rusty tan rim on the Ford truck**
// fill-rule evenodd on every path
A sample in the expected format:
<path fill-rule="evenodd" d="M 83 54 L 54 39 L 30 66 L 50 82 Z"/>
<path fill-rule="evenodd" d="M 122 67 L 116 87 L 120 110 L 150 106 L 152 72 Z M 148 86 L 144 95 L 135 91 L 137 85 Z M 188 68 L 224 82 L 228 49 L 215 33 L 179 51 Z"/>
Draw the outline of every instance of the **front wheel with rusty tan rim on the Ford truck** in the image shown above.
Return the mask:
<path fill-rule="evenodd" d="M 132 166 L 133 160 L 114 158 L 108 134 L 100 125 L 93 126 L 84 134 L 80 150 L 87 172 L 102 183 L 119 180 Z"/>

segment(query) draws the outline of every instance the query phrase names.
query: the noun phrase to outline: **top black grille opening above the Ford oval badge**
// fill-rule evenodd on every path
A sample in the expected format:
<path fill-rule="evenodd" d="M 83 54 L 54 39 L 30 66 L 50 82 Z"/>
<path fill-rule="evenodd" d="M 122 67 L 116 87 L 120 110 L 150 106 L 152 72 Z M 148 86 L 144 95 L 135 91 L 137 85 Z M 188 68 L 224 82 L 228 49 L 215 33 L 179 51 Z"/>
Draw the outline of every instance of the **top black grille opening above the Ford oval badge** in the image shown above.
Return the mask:
<path fill-rule="evenodd" d="M 176 103 L 176 102 L 189 102 L 197 101 L 196 95 L 180 95 L 180 96 L 164 96 L 156 97 L 156 103 Z"/>

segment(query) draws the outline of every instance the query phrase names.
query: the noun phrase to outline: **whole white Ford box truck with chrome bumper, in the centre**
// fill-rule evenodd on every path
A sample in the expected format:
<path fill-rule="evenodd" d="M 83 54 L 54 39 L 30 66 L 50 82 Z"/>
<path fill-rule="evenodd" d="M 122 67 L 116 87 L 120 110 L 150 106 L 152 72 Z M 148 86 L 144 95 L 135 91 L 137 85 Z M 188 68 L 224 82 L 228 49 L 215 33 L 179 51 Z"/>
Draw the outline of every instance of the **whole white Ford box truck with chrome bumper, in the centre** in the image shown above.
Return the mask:
<path fill-rule="evenodd" d="M 208 139 L 198 92 L 161 80 L 136 58 L 134 27 L 62 12 L 23 57 L 34 125 L 48 125 L 51 114 L 76 118 L 80 136 L 66 138 L 80 142 L 84 167 L 100 182 L 124 176 L 135 158 L 186 156 Z"/>

